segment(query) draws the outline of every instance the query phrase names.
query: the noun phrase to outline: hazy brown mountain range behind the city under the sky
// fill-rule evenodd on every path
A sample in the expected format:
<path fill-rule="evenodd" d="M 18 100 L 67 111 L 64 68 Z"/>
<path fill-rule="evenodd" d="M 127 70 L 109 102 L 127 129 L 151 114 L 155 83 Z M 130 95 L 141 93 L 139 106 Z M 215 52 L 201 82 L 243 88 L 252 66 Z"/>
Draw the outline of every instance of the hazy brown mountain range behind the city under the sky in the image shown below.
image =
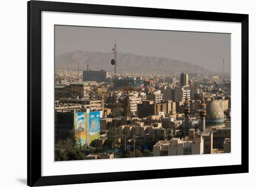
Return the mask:
<path fill-rule="evenodd" d="M 87 65 L 92 70 L 113 70 L 110 60 L 113 53 L 74 51 L 63 53 L 55 57 L 56 68 L 77 69 L 80 61 L 80 69 L 86 70 Z M 142 56 L 131 53 L 117 53 L 118 71 L 164 71 L 164 72 L 186 72 L 186 73 L 209 73 L 209 70 L 180 60 L 169 58 Z"/>

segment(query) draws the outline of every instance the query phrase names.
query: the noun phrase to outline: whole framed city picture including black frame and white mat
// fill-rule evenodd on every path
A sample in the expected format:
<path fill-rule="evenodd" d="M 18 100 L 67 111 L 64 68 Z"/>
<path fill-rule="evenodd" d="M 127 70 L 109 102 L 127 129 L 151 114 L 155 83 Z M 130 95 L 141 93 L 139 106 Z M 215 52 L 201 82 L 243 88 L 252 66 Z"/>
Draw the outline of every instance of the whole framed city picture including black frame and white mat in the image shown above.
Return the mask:
<path fill-rule="evenodd" d="M 27 185 L 248 173 L 248 20 L 27 2 Z"/>

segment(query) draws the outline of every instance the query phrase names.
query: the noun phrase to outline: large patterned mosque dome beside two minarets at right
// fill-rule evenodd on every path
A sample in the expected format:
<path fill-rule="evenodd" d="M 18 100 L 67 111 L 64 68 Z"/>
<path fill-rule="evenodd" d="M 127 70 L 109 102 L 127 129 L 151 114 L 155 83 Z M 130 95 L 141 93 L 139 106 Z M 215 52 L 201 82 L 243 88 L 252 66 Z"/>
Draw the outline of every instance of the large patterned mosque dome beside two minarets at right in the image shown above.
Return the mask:
<path fill-rule="evenodd" d="M 206 112 L 206 126 L 219 126 L 224 124 L 224 113 L 217 100 L 211 101 L 211 103 L 206 107 Z"/>

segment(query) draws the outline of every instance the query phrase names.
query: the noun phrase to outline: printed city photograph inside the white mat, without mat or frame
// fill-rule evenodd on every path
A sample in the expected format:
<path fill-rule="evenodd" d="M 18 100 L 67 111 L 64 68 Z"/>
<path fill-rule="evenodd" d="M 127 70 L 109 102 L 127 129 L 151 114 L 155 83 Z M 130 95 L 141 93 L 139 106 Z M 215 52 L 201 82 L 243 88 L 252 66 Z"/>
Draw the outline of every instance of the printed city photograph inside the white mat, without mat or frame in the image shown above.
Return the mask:
<path fill-rule="evenodd" d="M 231 152 L 231 35 L 54 26 L 55 161 Z"/>

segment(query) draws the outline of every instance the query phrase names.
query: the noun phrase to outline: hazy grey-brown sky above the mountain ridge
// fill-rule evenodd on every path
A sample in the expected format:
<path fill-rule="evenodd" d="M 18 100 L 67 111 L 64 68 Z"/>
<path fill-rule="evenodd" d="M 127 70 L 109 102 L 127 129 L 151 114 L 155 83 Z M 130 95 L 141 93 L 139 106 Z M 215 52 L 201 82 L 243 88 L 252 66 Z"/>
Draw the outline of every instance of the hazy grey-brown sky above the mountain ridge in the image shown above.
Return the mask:
<path fill-rule="evenodd" d="M 75 50 L 117 51 L 145 56 L 168 57 L 208 70 L 230 72 L 231 35 L 102 27 L 55 26 L 55 56 Z"/>

